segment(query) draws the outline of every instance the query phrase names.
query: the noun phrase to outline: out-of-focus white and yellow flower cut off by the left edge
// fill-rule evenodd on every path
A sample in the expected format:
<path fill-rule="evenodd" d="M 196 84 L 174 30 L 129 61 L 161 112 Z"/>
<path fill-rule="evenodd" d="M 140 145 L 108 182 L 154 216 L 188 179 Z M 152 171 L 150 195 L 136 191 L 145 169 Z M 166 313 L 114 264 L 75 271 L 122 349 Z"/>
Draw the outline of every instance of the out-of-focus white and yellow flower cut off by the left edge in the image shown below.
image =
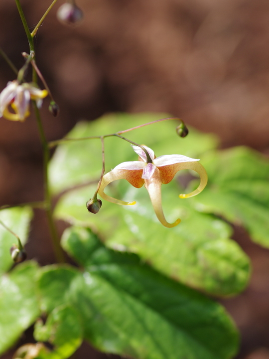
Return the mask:
<path fill-rule="evenodd" d="M 40 108 L 47 94 L 47 90 L 40 90 L 31 83 L 19 84 L 17 80 L 9 81 L 0 93 L 0 117 L 23 122 L 30 115 L 30 100 L 35 100 Z M 9 106 L 14 112 L 9 111 Z"/>

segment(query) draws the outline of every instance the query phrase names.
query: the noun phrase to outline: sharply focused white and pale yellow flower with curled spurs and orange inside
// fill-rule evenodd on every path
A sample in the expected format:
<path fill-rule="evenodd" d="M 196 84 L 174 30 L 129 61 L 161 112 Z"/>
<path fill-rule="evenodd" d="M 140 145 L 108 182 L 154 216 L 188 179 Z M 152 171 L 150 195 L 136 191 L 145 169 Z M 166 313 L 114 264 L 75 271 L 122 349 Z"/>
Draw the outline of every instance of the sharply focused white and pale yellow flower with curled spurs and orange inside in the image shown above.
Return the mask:
<path fill-rule="evenodd" d="M 207 173 L 197 159 L 183 155 L 164 155 L 156 158 L 149 147 L 143 147 L 148 152 L 151 162 L 140 147 L 133 146 L 134 152 L 139 156 L 138 161 L 123 162 L 116 166 L 103 177 L 98 192 L 102 198 L 113 203 L 135 204 L 135 201 L 125 202 L 113 198 L 104 193 L 104 189 L 109 183 L 117 179 L 127 179 L 136 188 L 140 188 L 144 184 L 158 220 L 165 227 L 174 227 L 180 223 L 180 219 L 178 218 L 174 223 L 166 221 L 161 205 L 161 185 L 169 183 L 180 170 L 193 170 L 200 175 L 198 188 L 188 194 L 179 194 L 180 198 L 192 197 L 200 193 L 206 186 Z"/>

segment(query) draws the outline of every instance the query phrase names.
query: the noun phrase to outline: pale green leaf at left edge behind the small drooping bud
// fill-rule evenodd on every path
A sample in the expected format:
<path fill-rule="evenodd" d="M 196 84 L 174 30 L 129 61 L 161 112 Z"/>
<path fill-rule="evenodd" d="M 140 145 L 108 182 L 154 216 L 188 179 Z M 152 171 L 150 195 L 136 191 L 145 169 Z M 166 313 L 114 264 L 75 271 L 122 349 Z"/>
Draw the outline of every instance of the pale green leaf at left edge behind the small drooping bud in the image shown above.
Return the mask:
<path fill-rule="evenodd" d="M 13 207 L 0 210 L 0 220 L 19 236 L 22 244 L 26 243 L 32 209 L 30 207 Z M 0 274 L 6 272 L 13 264 L 9 249 L 17 244 L 16 237 L 0 225 Z"/>

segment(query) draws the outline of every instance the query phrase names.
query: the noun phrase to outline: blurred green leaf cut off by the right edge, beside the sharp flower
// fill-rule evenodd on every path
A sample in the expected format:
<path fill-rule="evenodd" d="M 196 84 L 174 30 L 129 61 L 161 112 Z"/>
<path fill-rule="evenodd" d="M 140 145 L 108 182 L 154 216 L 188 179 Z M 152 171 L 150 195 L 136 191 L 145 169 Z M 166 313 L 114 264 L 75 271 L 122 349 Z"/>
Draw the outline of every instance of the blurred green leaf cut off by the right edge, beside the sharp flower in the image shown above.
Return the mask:
<path fill-rule="evenodd" d="M 245 147 L 203 159 L 209 182 L 196 208 L 244 226 L 254 242 L 269 248 L 269 161 Z"/>

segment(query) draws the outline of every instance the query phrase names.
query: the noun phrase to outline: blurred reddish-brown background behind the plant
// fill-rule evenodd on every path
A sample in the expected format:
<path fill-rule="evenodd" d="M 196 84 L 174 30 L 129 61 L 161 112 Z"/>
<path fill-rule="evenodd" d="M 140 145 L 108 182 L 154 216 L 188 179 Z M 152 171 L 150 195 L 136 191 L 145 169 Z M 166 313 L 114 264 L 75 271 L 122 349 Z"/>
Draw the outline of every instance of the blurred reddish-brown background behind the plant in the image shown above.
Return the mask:
<path fill-rule="evenodd" d="M 84 21 L 71 27 L 56 18 L 62 3 L 35 38 L 37 64 L 60 106 L 54 118 L 44 101 L 49 140 L 61 138 L 81 119 L 152 111 L 217 134 L 222 148 L 247 145 L 269 155 L 268 0 L 77 0 Z M 33 29 L 50 1 L 21 0 L 21 5 Z M 28 44 L 11 0 L 0 1 L 0 46 L 17 68 L 23 65 L 20 53 L 28 52 Z M 0 58 L 0 91 L 14 78 Z M 0 205 L 42 199 L 34 118 L 23 124 L 0 119 L 0 168 Z M 237 358 L 269 359 L 269 250 L 253 244 L 240 227 L 234 238 L 253 263 L 249 288 L 221 301 L 242 334 Z M 39 210 L 26 249 L 41 264 L 53 262 Z M 30 341 L 31 329 L 20 345 Z M 117 358 L 86 344 L 77 355 L 108 357 Z"/>

